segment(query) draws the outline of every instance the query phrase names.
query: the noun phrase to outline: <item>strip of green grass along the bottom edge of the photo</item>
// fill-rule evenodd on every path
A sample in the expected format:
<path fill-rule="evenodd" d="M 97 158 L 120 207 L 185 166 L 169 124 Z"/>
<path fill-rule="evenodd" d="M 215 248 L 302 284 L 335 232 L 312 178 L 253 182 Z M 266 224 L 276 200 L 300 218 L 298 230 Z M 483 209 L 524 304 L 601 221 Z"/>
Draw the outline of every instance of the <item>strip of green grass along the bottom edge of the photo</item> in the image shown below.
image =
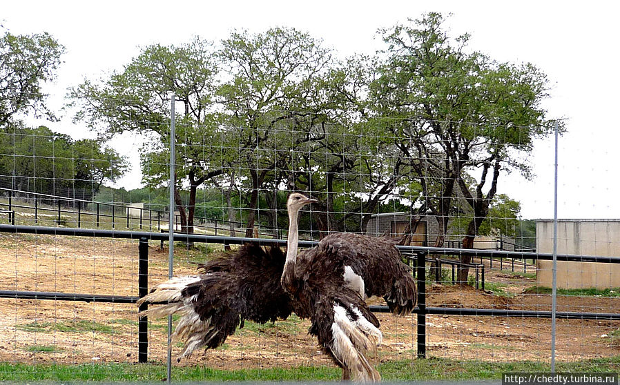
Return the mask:
<path fill-rule="evenodd" d="M 543 362 L 481 362 L 445 358 L 404 359 L 376 367 L 386 381 L 500 379 L 506 372 L 549 371 Z M 620 356 L 585 362 L 559 362 L 557 371 L 617 372 Z M 235 369 L 226 371 L 205 366 L 175 367 L 173 381 L 336 381 L 334 366 Z M 11 364 L 0 363 L 0 381 L 162 381 L 166 366 L 160 364 Z"/>

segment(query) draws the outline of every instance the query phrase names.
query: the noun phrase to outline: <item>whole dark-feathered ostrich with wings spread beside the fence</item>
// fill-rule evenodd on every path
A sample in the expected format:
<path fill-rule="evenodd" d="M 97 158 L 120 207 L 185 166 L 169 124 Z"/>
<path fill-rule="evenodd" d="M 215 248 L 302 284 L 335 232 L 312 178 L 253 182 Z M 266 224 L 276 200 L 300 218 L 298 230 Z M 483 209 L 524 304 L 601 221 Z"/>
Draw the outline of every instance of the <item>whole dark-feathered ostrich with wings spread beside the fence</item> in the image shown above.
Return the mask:
<path fill-rule="evenodd" d="M 316 201 L 289 195 L 289 235 L 286 256 L 278 247 L 245 244 L 200 266 L 202 274 L 175 277 L 139 299 L 162 304 L 141 316 L 180 313 L 173 337 L 184 339 L 177 360 L 197 348 L 216 348 L 243 327 L 286 319 L 292 311 L 309 318 L 309 333 L 342 368 L 342 379 L 380 381 L 365 357 L 382 340 L 379 321 L 364 302 L 384 297 L 390 310 L 408 314 L 416 304 L 411 270 L 400 261 L 398 240 L 335 233 L 298 255 L 298 214 Z"/>

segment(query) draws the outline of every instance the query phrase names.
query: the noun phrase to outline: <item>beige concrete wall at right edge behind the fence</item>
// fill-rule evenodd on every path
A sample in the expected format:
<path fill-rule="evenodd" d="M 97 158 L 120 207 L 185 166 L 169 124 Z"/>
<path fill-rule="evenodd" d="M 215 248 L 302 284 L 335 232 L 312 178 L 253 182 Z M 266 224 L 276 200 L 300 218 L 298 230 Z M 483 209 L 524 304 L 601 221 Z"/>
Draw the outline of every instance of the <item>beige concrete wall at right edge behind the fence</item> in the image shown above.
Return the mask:
<path fill-rule="evenodd" d="M 620 219 L 559 219 L 558 254 L 620 256 Z M 553 252 L 553 221 L 536 221 L 536 251 Z M 558 261 L 559 288 L 618 288 L 620 264 Z M 536 283 L 552 286 L 552 261 L 538 261 Z"/>

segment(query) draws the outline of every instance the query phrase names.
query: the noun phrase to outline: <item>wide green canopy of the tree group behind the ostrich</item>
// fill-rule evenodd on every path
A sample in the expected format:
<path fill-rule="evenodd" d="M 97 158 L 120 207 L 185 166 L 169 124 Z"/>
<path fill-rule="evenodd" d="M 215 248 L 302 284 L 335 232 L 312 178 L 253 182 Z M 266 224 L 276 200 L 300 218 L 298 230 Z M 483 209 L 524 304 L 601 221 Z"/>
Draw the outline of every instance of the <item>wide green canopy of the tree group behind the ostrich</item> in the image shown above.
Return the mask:
<path fill-rule="evenodd" d="M 547 79 L 530 64 L 469 52 L 467 34 L 451 39 L 444 21 L 429 13 L 382 30 L 384 51 L 344 61 L 293 28 L 233 31 L 218 46 L 200 39 L 148 46 L 70 97 L 76 118 L 104 137 L 148 132 L 143 181 L 161 188 L 174 91 L 183 106 L 176 199 L 188 213 L 196 207 L 199 216 L 240 215 L 249 228 L 255 220 L 282 227 L 281 197 L 259 192 L 307 190 L 320 199 L 313 228 L 364 231 L 371 214 L 392 208 L 448 217 L 464 206 L 452 202 L 460 189 L 474 233 L 514 232 L 518 204 L 501 197 L 491 205 L 496 175 L 509 168 L 529 175 L 523 155 L 550 130 L 540 106 Z M 196 201 L 203 185 L 226 194 L 227 204 Z M 220 210 L 232 197 L 247 210 Z M 490 205 L 503 223 L 482 224 Z M 258 209 L 267 215 L 256 218 Z M 445 233 L 447 221 L 440 225 Z"/>

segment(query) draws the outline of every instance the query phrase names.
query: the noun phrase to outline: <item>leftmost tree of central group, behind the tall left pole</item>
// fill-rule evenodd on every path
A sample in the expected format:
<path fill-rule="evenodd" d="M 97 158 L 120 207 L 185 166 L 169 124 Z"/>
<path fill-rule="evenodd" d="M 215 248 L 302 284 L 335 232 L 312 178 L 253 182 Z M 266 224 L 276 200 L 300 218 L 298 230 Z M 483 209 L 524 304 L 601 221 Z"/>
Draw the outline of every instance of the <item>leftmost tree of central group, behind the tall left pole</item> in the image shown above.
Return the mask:
<path fill-rule="evenodd" d="M 88 121 L 102 137 L 141 132 L 151 141 L 142 148 L 142 172 L 150 187 L 168 182 L 170 99 L 182 104 L 177 114 L 175 204 L 182 231 L 193 233 L 197 189 L 222 173 L 213 120 L 217 63 L 211 43 L 195 39 L 181 46 L 148 46 L 122 70 L 99 82 L 84 81 L 70 97 L 80 109 L 76 119 Z M 180 190 L 188 186 L 184 204 Z"/>

